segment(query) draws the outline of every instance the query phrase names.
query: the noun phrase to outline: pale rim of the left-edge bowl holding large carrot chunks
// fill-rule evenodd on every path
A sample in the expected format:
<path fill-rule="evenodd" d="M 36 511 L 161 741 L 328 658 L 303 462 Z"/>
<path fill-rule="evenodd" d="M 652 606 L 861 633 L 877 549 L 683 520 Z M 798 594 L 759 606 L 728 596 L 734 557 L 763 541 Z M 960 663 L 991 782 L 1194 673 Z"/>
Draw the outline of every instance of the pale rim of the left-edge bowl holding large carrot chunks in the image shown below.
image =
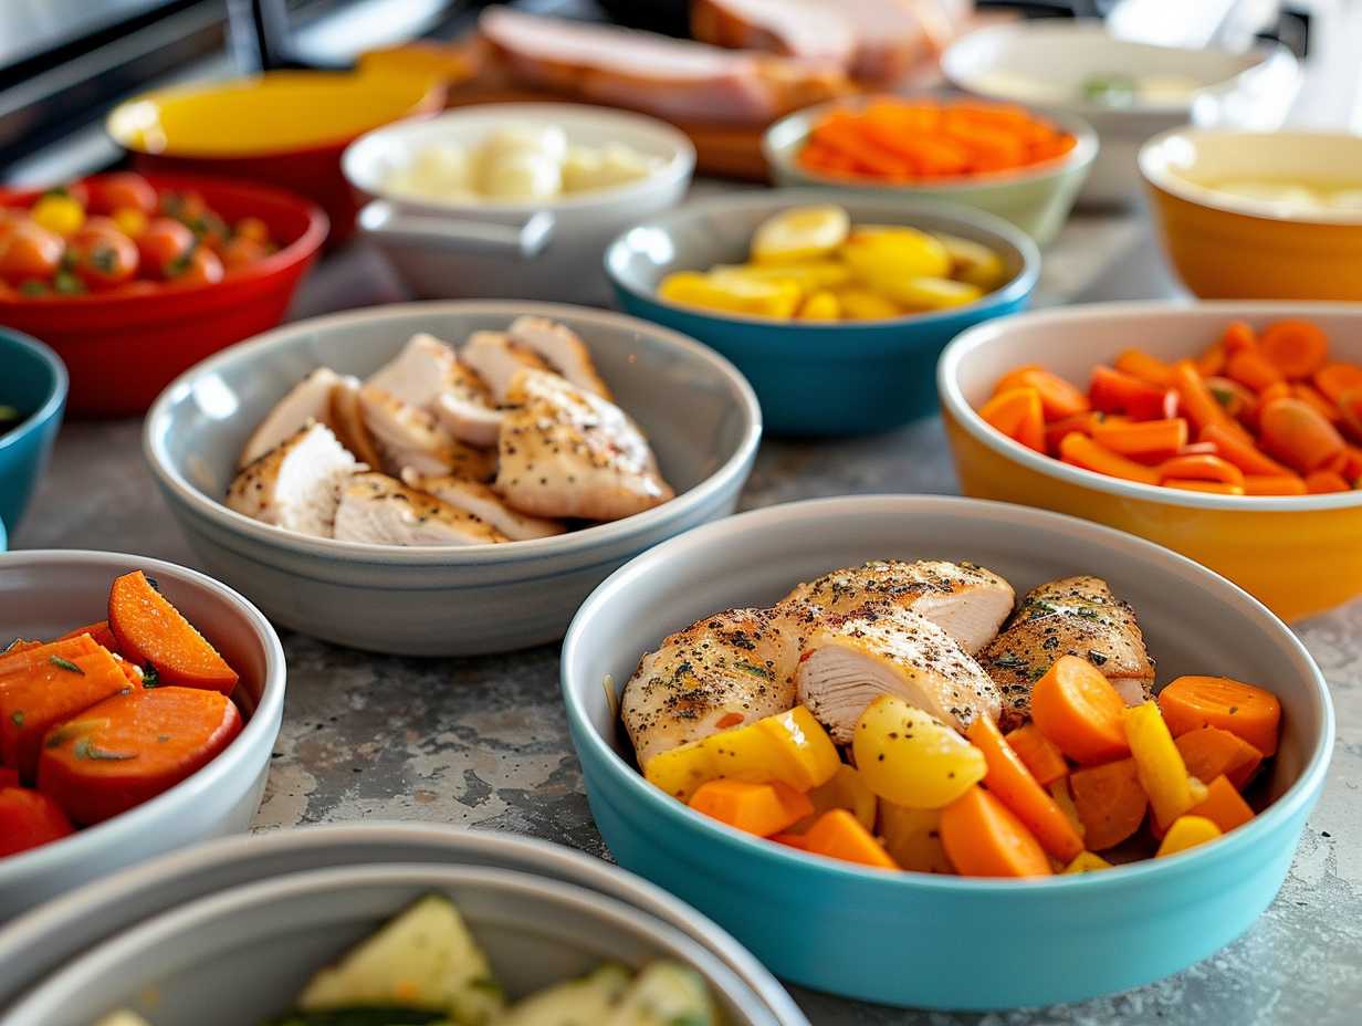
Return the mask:
<path fill-rule="evenodd" d="M 264 654 L 264 680 L 260 685 L 260 700 L 247 718 L 241 733 L 203 768 L 189 774 L 169 790 L 123 812 L 104 823 L 78 830 L 75 834 L 53 841 L 49 845 L 29 852 L 0 858 L 0 886 L 41 876 L 63 865 L 80 860 L 97 860 L 102 846 L 120 845 L 128 838 L 155 830 L 159 820 L 174 816 L 180 809 L 217 790 L 221 782 L 233 774 L 240 774 L 245 752 L 255 744 L 274 747 L 283 715 L 283 694 L 287 683 L 287 662 L 279 635 L 255 605 L 219 580 L 178 563 L 169 563 L 150 556 L 136 556 L 124 552 L 101 552 L 95 549 L 25 549 L 22 552 L 0 553 L 0 572 L 14 565 L 50 567 L 67 564 L 76 567 L 108 565 L 110 571 L 118 567 L 150 570 L 157 576 L 176 580 L 200 593 L 208 593 L 226 606 L 226 616 L 244 621 Z M 268 758 L 266 758 L 268 763 Z"/>

